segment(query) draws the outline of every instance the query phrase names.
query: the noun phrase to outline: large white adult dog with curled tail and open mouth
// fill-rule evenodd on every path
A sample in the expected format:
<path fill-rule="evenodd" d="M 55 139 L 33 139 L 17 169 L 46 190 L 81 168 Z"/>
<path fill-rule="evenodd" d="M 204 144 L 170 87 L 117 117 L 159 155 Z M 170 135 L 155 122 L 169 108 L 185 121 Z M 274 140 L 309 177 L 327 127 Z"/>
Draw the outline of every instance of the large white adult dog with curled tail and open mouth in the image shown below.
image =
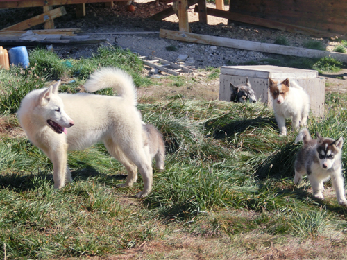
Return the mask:
<path fill-rule="evenodd" d="M 142 119 L 136 107 L 132 78 L 121 69 L 103 68 L 94 72 L 84 85 L 88 92 L 112 87 L 118 96 L 58 94 L 59 85 L 60 81 L 30 92 L 17 113 L 30 141 L 53 163 L 54 188 L 60 189 L 71 182 L 67 150 L 82 150 L 102 141 L 110 155 L 128 171 L 126 183 L 119 187 L 133 185 L 138 167 L 144 190 L 136 196 L 147 196 L 153 173 L 150 156 L 144 148 Z"/>

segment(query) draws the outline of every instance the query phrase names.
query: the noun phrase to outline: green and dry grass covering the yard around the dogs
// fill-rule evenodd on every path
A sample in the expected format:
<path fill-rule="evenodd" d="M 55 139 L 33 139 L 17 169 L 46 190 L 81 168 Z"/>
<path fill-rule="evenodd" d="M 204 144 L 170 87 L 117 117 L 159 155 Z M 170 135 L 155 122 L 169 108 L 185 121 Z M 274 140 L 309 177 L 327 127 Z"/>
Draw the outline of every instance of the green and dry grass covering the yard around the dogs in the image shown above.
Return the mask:
<path fill-rule="evenodd" d="M 53 75 L 71 77 L 61 90 L 75 93 L 89 71 L 101 66 L 119 66 L 132 75 L 140 75 L 142 69 L 128 51 L 100 49 L 89 60 L 69 60 L 71 67 L 57 72 L 67 60 L 58 59 L 49 69 L 37 52 L 31 59 L 42 60 L 36 58 L 30 69 L 0 70 L 1 113 L 8 121 L 0 129 L 18 127 L 14 113 L 22 97 L 46 86 Z M 218 78 L 219 69 L 208 71 L 212 76 L 206 80 Z M 177 87 L 191 80 L 166 79 Z M 148 83 L 137 76 L 138 86 Z M 327 94 L 325 103 L 323 119 L 310 116 L 307 128 L 313 136 L 318 131 L 346 139 L 347 95 Z M 246 258 L 293 241 L 299 248 L 306 241 L 323 241 L 327 254 L 334 252 L 325 255 L 327 259 L 335 252 L 346 257 L 344 251 L 336 251 L 346 247 L 346 208 L 337 204 L 335 194 L 314 199 L 307 180 L 294 186 L 293 164 L 301 144 L 294 144 L 297 133 L 278 136 L 271 107 L 180 95 L 142 101 L 138 107 L 143 120 L 162 132 L 167 147 L 166 170 L 154 172 L 153 191 L 142 200 L 134 198 L 143 187 L 141 177 L 132 188 L 116 189 L 125 181 L 126 169 L 102 144 L 69 153 L 74 182 L 55 190 L 49 159 L 26 137 L 1 135 L 0 245 L 6 245 L 6 259 L 106 258 L 129 250 L 135 250 L 134 258 L 189 259 L 183 251 L 189 248 L 189 239 L 203 242 L 191 248 L 194 255 L 199 248 L 208 259 L 226 259 L 226 252 L 229 258 Z M 346 148 L 342 162 L 347 165 Z M 328 182 L 326 188 L 330 187 Z M 220 249 L 206 248 L 212 244 Z M 147 247 L 154 247 L 153 253 L 142 254 Z M 181 258 L 169 255 L 171 250 Z M 302 254 L 316 255 L 314 250 Z M 5 250 L 0 250 L 0 259 L 4 258 Z"/>

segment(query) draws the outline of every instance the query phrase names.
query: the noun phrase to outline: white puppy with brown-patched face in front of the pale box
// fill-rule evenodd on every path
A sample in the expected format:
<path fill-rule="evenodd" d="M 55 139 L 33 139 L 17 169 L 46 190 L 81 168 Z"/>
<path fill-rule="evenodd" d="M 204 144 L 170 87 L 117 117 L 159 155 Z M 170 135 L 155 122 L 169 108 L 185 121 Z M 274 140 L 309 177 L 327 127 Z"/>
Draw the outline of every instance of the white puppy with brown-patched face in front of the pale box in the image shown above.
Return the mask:
<path fill-rule="evenodd" d="M 269 89 L 280 135 L 287 135 L 286 118 L 291 117 L 293 131 L 297 131 L 299 125 L 305 126 L 310 111 L 310 98 L 305 90 L 294 81 L 289 83 L 289 78 L 280 83 L 270 78 Z"/>

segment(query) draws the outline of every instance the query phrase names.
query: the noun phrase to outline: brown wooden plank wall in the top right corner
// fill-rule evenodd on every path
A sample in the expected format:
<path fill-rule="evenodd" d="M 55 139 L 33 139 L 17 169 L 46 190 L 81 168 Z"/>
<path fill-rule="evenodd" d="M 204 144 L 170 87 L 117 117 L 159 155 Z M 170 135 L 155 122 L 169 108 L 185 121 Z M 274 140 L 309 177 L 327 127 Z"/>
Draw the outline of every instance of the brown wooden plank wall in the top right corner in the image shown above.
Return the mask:
<path fill-rule="evenodd" d="M 347 1 L 232 0 L 230 11 L 330 33 L 347 32 Z"/>

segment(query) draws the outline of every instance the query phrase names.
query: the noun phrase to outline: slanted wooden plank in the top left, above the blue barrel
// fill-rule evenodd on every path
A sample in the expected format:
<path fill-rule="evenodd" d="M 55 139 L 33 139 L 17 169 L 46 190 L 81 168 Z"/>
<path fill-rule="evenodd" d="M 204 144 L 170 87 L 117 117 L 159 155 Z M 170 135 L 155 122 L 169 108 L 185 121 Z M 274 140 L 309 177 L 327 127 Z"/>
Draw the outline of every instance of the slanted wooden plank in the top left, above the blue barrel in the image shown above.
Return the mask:
<path fill-rule="evenodd" d="M 35 17 L 32 17 L 31 19 L 27 19 L 27 20 L 22 21 L 18 24 L 9 26 L 7 28 L 3 28 L 3 31 L 6 31 L 6 30 L 25 30 L 27 28 L 31 28 L 32 26 L 35 26 L 37 24 L 42 24 L 45 21 L 49 21 L 51 19 L 60 17 L 60 16 L 65 15 L 65 14 L 66 14 L 66 10 L 65 10 L 64 6 L 60 6 L 60 8 L 56 8 L 56 9 L 51 10 L 49 12 L 44 12 L 42 15 L 37 15 Z"/>

